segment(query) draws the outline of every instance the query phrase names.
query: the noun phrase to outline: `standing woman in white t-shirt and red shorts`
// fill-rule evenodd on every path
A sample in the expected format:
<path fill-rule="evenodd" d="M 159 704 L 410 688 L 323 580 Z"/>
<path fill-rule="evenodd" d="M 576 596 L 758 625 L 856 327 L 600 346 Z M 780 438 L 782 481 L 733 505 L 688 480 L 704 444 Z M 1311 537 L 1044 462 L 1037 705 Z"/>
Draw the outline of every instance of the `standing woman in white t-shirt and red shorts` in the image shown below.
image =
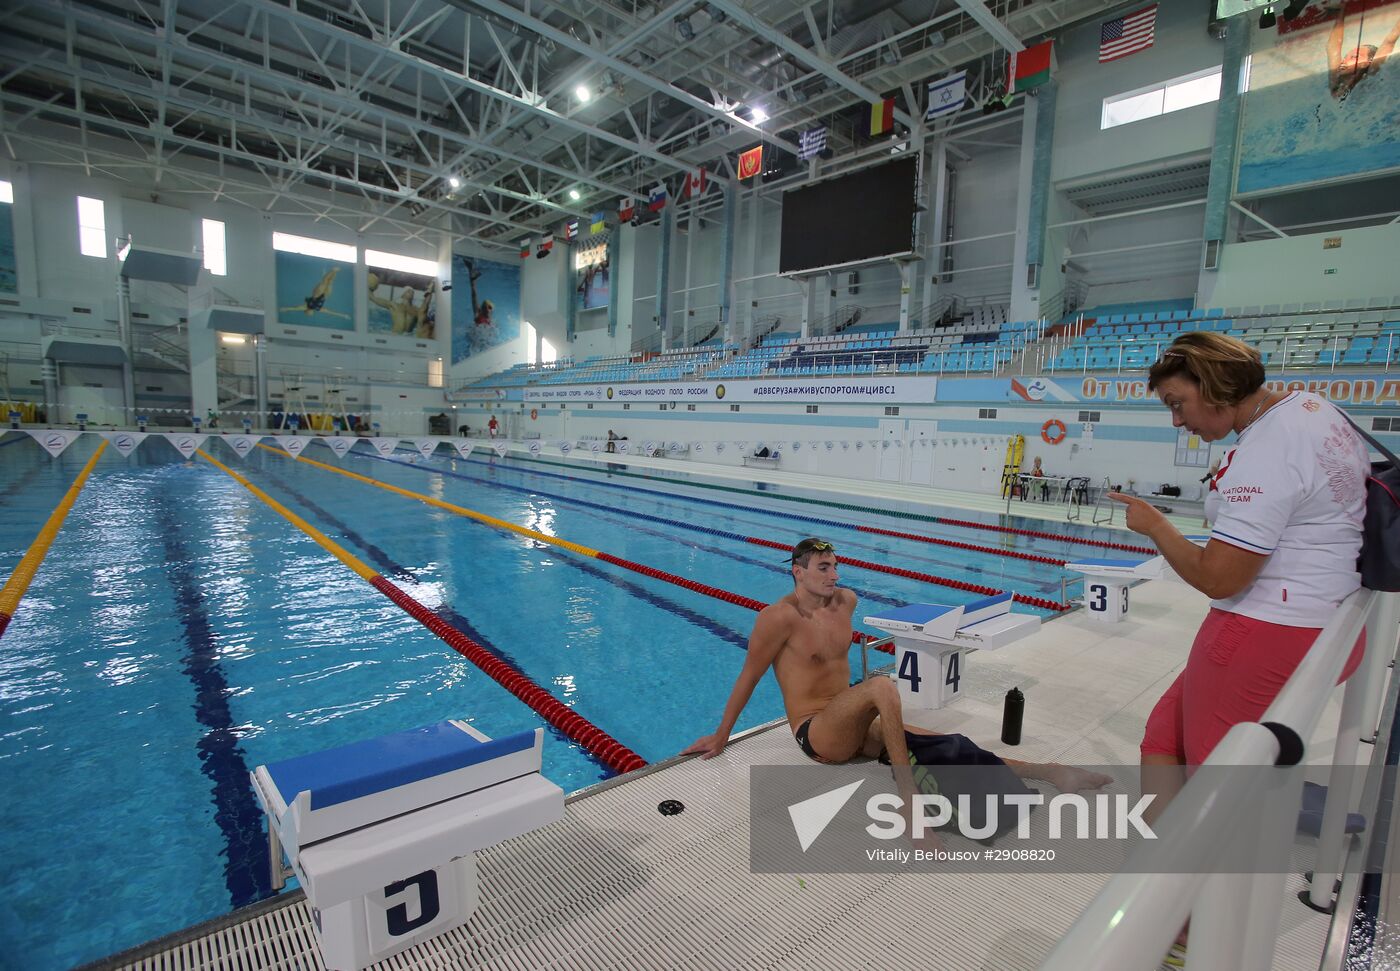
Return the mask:
<path fill-rule="evenodd" d="M 1264 388 L 1259 353 L 1211 332 L 1182 334 L 1148 388 L 1172 424 L 1217 442 L 1239 438 L 1205 498 L 1211 537 L 1187 540 L 1151 504 L 1117 492 L 1127 525 L 1151 539 L 1183 581 L 1211 597 L 1186 670 L 1148 718 L 1144 791 L 1161 813 L 1239 722 L 1257 721 L 1333 611 L 1361 586 L 1357 555 L 1369 460 L 1329 402 Z M 1343 679 L 1361 660 L 1357 642 Z"/>

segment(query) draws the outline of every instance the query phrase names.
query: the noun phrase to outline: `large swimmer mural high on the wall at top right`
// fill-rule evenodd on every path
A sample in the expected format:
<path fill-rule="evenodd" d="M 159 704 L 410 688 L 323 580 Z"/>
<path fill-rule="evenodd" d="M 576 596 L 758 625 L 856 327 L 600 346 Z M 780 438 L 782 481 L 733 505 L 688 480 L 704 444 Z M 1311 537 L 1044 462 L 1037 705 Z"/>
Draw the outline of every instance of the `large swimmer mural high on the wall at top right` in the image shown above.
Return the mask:
<path fill-rule="evenodd" d="M 1236 192 L 1400 169 L 1397 41 L 1400 0 L 1310 3 L 1252 25 Z"/>

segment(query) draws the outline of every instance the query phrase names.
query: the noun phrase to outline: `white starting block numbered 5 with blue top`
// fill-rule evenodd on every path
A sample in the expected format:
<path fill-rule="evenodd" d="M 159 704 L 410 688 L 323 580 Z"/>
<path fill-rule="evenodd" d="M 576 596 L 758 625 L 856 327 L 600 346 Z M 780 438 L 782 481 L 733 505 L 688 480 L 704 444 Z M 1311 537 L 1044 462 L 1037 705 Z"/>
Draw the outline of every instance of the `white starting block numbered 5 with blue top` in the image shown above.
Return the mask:
<path fill-rule="evenodd" d="M 273 883 L 286 851 L 328 970 L 358 971 L 472 915 L 475 851 L 564 816 L 542 747 L 542 729 L 489 739 L 448 721 L 253 770 Z"/>

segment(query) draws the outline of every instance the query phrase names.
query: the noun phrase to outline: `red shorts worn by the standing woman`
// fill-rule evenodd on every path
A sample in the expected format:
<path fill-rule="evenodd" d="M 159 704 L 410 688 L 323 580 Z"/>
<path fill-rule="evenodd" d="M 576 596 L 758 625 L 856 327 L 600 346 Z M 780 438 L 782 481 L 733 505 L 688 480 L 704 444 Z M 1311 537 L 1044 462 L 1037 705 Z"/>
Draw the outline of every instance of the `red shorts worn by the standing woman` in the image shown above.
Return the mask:
<path fill-rule="evenodd" d="M 1260 719 L 1319 634 L 1319 627 L 1284 627 L 1211 607 L 1186 670 L 1148 715 L 1142 754 L 1204 763 L 1231 728 Z M 1357 670 L 1365 644 L 1362 631 L 1338 684 Z"/>

